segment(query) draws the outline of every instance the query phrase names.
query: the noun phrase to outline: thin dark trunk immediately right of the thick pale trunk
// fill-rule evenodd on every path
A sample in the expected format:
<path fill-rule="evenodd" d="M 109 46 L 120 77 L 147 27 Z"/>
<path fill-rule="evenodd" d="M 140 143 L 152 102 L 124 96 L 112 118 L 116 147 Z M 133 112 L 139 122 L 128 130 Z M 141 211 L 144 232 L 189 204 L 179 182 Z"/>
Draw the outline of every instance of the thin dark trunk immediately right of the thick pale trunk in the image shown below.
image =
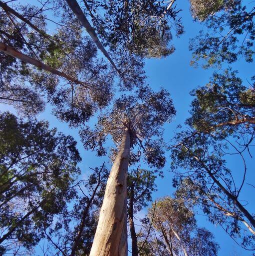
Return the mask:
<path fill-rule="evenodd" d="M 132 240 L 132 256 L 138 256 L 138 245 L 137 245 L 137 236 L 134 225 L 134 215 L 133 215 L 133 207 L 134 207 L 134 184 L 132 183 L 130 198 L 129 198 L 129 209 L 128 209 L 128 219 L 129 219 L 129 229 Z"/>

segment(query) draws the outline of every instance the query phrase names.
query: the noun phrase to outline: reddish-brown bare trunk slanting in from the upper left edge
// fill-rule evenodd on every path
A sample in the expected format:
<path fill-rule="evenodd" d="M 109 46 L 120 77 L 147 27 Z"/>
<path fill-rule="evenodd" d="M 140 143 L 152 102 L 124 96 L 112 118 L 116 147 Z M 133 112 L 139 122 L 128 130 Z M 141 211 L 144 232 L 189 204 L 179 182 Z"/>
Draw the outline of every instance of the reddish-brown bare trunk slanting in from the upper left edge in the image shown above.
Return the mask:
<path fill-rule="evenodd" d="M 24 61 L 24 62 L 29 63 L 31 65 L 37 66 L 38 68 L 46 70 L 46 71 L 48 71 L 52 74 L 56 74 L 56 75 L 59 75 L 63 78 L 66 78 L 69 81 L 72 81 L 72 82 L 75 82 L 75 83 L 78 83 L 78 84 L 83 84 L 83 85 L 86 85 L 88 87 L 88 85 L 85 84 L 84 82 L 79 81 L 78 79 L 75 79 L 75 78 L 73 78 L 73 77 L 69 76 L 68 74 L 65 74 L 61 71 L 58 71 L 57 69 L 55 69 L 51 66 L 48 66 L 48 65 L 44 64 L 43 62 L 41 62 L 39 60 L 31 58 L 31 57 L 23 54 L 22 52 L 14 49 L 13 47 L 11 47 L 11 46 L 9 46 L 5 43 L 0 42 L 0 51 L 4 52 L 5 54 L 8 54 L 8 55 L 10 55 L 14 58 L 18 58 L 21 61 Z"/>

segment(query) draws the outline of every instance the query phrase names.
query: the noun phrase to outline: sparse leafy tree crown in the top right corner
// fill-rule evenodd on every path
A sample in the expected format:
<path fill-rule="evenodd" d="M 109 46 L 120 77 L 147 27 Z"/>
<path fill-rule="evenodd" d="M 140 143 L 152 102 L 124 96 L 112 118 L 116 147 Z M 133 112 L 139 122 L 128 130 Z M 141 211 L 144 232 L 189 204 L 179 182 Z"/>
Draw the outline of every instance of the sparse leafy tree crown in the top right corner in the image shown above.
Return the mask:
<path fill-rule="evenodd" d="M 205 22 L 190 42 L 192 63 L 204 60 L 204 67 L 232 63 L 244 56 L 252 62 L 255 53 L 255 7 L 242 0 L 190 0 L 195 19 Z"/>

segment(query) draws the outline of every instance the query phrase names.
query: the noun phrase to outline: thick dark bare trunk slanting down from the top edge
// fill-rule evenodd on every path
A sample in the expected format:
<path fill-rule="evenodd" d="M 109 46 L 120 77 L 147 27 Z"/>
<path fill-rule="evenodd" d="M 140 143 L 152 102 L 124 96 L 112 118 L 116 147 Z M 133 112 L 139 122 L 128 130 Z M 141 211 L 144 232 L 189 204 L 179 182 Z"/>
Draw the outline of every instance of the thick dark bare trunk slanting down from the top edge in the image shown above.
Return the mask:
<path fill-rule="evenodd" d="M 102 53 L 110 61 L 110 63 L 114 67 L 114 69 L 119 73 L 120 72 L 119 69 L 117 68 L 117 66 L 115 65 L 113 60 L 111 59 L 110 55 L 104 48 L 103 44 L 100 42 L 99 38 L 97 37 L 97 35 L 95 33 L 94 28 L 90 25 L 89 21 L 87 20 L 86 16 L 84 15 L 84 13 L 83 13 L 81 7 L 79 6 L 79 4 L 77 3 L 77 1 L 76 0 L 66 0 L 66 2 L 69 5 L 70 9 L 75 14 L 75 16 L 77 17 L 77 19 L 86 28 L 87 32 L 91 36 L 92 40 L 94 41 L 94 43 L 96 44 L 98 49 L 100 49 L 102 51 Z"/>

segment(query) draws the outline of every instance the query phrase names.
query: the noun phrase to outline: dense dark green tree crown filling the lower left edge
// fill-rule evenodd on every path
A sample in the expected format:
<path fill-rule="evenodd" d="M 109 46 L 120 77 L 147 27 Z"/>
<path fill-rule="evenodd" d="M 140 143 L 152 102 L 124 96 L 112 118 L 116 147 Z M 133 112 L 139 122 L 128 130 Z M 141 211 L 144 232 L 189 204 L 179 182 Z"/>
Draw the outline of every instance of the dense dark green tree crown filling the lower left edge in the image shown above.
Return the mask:
<path fill-rule="evenodd" d="M 81 160 L 71 136 L 0 113 L 0 250 L 32 248 L 75 196 Z"/>

